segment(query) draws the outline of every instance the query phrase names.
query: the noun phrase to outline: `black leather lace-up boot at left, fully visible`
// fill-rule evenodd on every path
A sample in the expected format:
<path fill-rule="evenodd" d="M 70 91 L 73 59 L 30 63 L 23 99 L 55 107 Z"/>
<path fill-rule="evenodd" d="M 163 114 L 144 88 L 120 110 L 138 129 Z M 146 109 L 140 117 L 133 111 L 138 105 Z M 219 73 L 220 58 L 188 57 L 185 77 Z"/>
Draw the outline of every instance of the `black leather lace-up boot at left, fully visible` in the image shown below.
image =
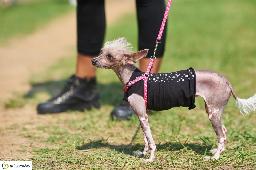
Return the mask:
<path fill-rule="evenodd" d="M 96 79 L 81 79 L 72 76 L 63 91 L 56 97 L 37 106 L 38 114 L 59 113 L 67 110 L 90 110 L 100 107 L 99 92 Z"/>

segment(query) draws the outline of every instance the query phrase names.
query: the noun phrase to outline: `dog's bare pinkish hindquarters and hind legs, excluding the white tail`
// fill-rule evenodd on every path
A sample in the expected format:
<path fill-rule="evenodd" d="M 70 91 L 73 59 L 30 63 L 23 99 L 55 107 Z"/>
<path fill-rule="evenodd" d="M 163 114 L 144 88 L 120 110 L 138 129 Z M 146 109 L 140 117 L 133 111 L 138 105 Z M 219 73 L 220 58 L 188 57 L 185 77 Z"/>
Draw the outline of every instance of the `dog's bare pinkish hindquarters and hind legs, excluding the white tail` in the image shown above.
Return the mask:
<path fill-rule="evenodd" d="M 221 122 L 222 113 L 231 96 L 228 79 L 218 73 L 206 70 L 195 70 L 196 73 L 196 96 L 201 96 L 205 101 L 205 110 L 212 127 L 217 135 L 218 147 L 213 157 L 205 159 L 219 159 L 220 153 L 224 152 L 227 129 Z"/>

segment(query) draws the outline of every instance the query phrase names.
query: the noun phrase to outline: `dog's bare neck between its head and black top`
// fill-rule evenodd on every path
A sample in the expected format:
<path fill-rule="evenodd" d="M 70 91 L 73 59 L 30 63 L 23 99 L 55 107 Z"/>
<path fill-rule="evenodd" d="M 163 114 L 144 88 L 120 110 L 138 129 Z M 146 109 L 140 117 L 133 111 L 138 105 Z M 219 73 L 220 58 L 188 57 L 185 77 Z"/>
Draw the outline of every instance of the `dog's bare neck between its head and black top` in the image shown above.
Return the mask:
<path fill-rule="evenodd" d="M 126 64 L 118 69 L 113 69 L 113 71 L 116 73 L 123 86 L 125 86 L 136 68 L 134 64 Z"/>

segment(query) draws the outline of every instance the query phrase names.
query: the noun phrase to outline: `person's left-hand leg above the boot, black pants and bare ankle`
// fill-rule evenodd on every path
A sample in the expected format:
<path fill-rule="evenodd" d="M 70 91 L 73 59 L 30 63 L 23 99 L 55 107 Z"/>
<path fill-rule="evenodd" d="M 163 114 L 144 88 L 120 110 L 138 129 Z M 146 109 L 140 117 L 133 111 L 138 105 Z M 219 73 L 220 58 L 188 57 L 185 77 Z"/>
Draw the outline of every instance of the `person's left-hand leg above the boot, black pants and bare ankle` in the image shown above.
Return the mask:
<path fill-rule="evenodd" d="M 98 56 L 105 34 L 104 0 L 78 0 L 76 76 L 95 77 L 96 68 L 91 60 Z"/>

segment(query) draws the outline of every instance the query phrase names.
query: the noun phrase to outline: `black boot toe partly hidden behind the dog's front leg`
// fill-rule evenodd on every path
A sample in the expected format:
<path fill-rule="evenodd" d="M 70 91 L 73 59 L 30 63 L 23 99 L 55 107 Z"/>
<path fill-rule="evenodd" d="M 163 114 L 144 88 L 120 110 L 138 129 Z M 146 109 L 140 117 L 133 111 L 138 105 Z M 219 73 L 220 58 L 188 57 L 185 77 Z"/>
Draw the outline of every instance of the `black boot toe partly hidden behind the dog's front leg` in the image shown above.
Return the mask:
<path fill-rule="evenodd" d="M 116 120 L 129 120 L 129 117 L 131 117 L 133 114 L 134 114 L 134 112 L 133 112 L 130 104 L 123 100 L 110 113 L 110 116 L 112 119 L 114 119 L 114 117 L 115 117 Z"/>

